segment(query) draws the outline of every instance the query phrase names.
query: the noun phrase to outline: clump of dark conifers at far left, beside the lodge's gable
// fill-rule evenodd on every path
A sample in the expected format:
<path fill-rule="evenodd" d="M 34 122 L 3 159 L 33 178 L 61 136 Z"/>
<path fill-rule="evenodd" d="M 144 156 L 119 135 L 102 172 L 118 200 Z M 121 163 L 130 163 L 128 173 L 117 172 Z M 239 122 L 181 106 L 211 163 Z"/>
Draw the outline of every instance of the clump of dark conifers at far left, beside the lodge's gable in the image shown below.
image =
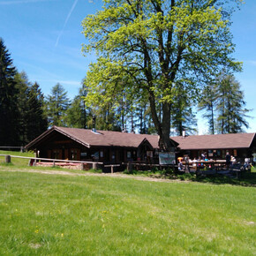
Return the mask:
<path fill-rule="evenodd" d="M 0 38 L 0 145 L 24 146 L 44 132 L 43 96 L 26 72 L 17 72 Z"/>

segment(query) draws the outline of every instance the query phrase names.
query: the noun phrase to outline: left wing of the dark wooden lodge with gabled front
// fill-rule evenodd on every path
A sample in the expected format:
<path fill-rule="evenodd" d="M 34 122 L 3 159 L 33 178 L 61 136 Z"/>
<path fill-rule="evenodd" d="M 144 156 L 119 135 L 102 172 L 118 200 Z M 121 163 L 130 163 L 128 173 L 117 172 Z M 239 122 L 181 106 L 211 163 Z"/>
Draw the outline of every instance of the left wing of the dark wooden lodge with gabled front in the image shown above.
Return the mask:
<path fill-rule="evenodd" d="M 177 143 L 172 139 L 173 151 Z M 28 145 L 37 157 L 103 162 L 158 162 L 158 136 L 53 126 Z"/>

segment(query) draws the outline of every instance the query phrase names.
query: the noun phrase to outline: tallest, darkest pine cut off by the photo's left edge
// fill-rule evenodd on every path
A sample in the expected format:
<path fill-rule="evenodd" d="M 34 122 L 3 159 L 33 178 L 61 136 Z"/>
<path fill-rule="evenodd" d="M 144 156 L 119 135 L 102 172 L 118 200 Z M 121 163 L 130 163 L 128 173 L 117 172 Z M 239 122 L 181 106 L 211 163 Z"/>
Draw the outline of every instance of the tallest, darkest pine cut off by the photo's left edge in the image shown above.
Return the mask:
<path fill-rule="evenodd" d="M 17 146 L 19 143 L 18 88 L 11 55 L 0 38 L 0 145 Z"/>

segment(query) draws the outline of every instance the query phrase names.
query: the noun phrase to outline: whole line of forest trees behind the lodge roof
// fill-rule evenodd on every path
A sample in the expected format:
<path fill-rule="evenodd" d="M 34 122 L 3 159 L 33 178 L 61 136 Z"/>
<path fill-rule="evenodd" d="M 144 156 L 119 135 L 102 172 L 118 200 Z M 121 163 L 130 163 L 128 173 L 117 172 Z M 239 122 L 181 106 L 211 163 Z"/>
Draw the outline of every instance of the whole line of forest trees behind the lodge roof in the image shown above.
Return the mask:
<path fill-rule="evenodd" d="M 107 104 L 92 105 L 87 98 L 87 82 L 87 78 L 82 81 L 73 99 L 59 83 L 44 95 L 37 82 L 17 70 L 0 38 L 0 146 L 25 146 L 52 125 L 91 129 L 94 116 L 98 130 L 156 133 L 147 101 L 123 94 L 120 102 L 109 99 Z M 245 109 L 244 93 L 233 75 L 222 72 L 197 91 L 197 99 L 190 93 L 180 86 L 172 99 L 171 135 L 181 135 L 184 130 L 196 134 L 198 110 L 207 119 L 210 134 L 248 128 L 250 110 Z M 162 103 L 156 107 L 161 119 Z"/>

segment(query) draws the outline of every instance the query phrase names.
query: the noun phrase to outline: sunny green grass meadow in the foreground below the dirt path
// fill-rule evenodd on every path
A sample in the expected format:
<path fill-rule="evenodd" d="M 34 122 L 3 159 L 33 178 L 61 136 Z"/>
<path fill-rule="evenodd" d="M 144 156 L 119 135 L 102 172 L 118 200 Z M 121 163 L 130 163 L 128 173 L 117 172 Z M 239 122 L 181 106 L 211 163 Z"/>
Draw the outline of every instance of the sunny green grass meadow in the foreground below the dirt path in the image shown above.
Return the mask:
<path fill-rule="evenodd" d="M 255 255 L 255 187 L 0 171 L 0 255 Z"/>

